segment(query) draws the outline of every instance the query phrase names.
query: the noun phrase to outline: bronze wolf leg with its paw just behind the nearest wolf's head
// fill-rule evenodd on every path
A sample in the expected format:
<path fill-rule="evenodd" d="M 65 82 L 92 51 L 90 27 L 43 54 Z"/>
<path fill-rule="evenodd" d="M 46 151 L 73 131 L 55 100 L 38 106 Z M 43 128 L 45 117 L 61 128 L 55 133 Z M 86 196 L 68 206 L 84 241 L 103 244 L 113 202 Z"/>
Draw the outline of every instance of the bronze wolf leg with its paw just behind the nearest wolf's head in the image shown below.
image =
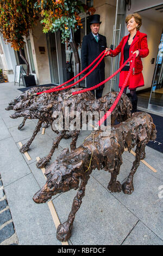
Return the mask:
<path fill-rule="evenodd" d="M 64 138 L 64 136 L 65 136 L 65 131 L 62 131 L 59 133 L 59 135 L 57 136 L 57 138 L 55 138 L 55 141 L 53 142 L 52 149 L 49 152 L 49 154 L 45 157 L 42 157 L 42 159 L 40 159 L 39 162 L 36 163 L 37 168 L 43 168 L 46 166 L 46 164 L 51 160 L 55 149 L 58 148 L 58 145 L 61 139 Z"/>

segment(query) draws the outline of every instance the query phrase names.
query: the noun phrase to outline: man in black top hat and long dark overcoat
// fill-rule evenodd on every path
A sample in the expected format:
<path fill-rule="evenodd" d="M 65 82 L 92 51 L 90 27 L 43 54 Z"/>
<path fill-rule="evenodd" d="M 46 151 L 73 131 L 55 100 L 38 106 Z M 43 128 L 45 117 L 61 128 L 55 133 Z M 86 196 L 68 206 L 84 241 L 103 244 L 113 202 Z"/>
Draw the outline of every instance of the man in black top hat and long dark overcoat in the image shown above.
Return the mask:
<path fill-rule="evenodd" d="M 101 25 L 100 15 L 90 16 L 91 32 L 85 35 L 82 42 L 82 70 L 85 69 L 92 61 L 106 48 L 105 36 L 98 34 Z M 97 62 L 96 62 L 97 63 Z M 95 64 L 96 64 L 95 63 Z M 89 70 L 95 65 L 93 64 Z M 87 70 L 87 72 L 89 71 Z M 105 80 L 105 62 L 104 59 L 93 72 L 86 77 L 86 87 L 90 88 Z M 96 99 L 102 97 L 104 84 L 96 89 Z M 95 90 L 91 90 L 95 95 Z"/>

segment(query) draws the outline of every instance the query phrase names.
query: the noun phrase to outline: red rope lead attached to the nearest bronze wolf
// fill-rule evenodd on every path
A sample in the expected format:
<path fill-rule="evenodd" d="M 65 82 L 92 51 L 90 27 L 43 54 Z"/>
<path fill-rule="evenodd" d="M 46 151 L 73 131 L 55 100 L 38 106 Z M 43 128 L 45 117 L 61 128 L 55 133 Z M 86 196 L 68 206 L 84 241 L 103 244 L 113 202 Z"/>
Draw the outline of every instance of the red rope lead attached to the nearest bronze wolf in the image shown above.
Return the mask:
<path fill-rule="evenodd" d="M 122 88 L 121 88 L 121 90 L 120 90 L 120 93 L 118 93 L 118 96 L 117 96 L 115 102 L 113 103 L 113 105 L 110 107 L 109 111 L 107 111 L 107 112 L 103 115 L 103 117 L 98 121 L 98 127 L 101 126 L 101 125 L 104 123 L 104 121 L 106 120 L 106 118 L 109 117 L 109 115 L 111 114 L 111 112 L 112 112 L 112 111 L 114 110 L 114 108 L 116 107 L 118 101 L 120 100 L 120 97 L 121 97 L 121 95 L 122 95 L 122 93 L 123 93 L 124 87 L 126 87 L 127 82 L 128 82 L 128 79 L 129 79 L 129 76 L 130 76 L 131 71 L 132 71 L 132 69 L 133 69 L 133 67 L 134 67 L 136 54 L 135 54 L 134 56 L 132 56 L 132 57 L 134 57 L 133 63 L 132 63 L 131 66 L 130 66 L 129 72 L 128 72 L 127 77 L 126 77 L 126 80 L 124 81 L 124 84 L 123 84 L 123 86 L 122 86 Z"/>

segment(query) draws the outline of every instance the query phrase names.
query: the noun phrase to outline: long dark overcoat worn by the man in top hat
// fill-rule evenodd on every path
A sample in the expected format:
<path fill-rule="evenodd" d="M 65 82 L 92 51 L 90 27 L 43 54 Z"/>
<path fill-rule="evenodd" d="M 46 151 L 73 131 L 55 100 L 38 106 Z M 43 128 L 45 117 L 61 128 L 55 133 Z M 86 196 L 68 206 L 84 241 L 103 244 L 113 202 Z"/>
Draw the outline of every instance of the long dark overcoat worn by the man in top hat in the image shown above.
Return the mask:
<path fill-rule="evenodd" d="M 105 36 L 98 34 L 98 42 L 94 38 L 92 32 L 88 35 L 85 35 L 82 42 L 82 70 L 85 69 L 89 64 L 93 62 L 96 57 L 105 50 L 106 48 L 106 38 Z M 99 60 L 99 59 L 98 59 Z M 98 62 L 97 60 L 97 62 Z M 97 63 L 96 62 L 96 63 Z M 93 64 L 89 70 L 90 71 L 93 66 L 96 65 Z M 97 66 L 93 72 L 86 77 L 86 87 L 90 88 L 92 86 L 96 86 L 96 84 L 102 82 L 105 80 L 105 62 L 104 59 L 102 62 Z M 101 87 L 98 87 L 97 89 L 104 88 L 104 84 Z"/>

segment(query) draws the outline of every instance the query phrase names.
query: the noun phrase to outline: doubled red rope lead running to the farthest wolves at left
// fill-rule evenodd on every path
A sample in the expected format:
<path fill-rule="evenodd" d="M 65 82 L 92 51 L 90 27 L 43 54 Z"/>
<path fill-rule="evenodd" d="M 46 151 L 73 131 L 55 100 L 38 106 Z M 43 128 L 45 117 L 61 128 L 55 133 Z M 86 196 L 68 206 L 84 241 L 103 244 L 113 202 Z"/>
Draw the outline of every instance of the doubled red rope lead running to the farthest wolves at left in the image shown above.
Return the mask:
<path fill-rule="evenodd" d="M 41 93 L 57 92 L 57 89 L 58 89 L 58 88 L 60 88 L 60 87 L 62 87 L 62 86 L 65 86 L 65 84 L 70 83 L 70 82 L 73 81 L 75 78 L 77 78 L 78 76 L 82 75 L 82 74 L 83 74 L 87 69 L 89 69 L 104 53 L 105 53 L 105 50 L 102 51 L 102 52 L 99 54 L 99 56 L 97 56 L 97 58 L 94 59 L 93 62 L 92 62 L 89 66 L 87 66 L 87 68 L 85 68 L 84 70 L 82 70 L 82 71 L 81 71 L 79 74 L 77 74 L 76 76 L 72 77 L 70 80 L 68 80 L 68 81 L 66 81 L 66 82 L 64 82 L 64 83 L 60 84 L 59 86 L 54 87 L 54 88 L 52 88 L 52 89 L 45 90 L 44 92 L 37 93 L 37 95 L 39 95 L 39 94 L 41 94 Z M 104 54 L 104 56 L 105 56 L 105 54 Z M 103 58 L 104 58 L 104 56 L 103 56 Z M 98 62 L 98 64 L 102 61 L 103 58 L 100 59 L 100 61 Z M 95 66 L 97 67 L 98 64 L 96 64 Z M 92 72 L 94 69 L 95 69 L 95 67 L 94 67 L 93 69 L 91 69 L 90 71 Z M 89 73 L 89 74 L 90 74 L 90 73 Z M 86 74 L 86 76 L 88 76 L 88 74 Z M 77 83 L 79 83 L 80 81 L 84 80 L 84 78 L 85 78 L 86 76 L 82 77 L 81 80 L 78 80 L 78 81 L 76 81 L 76 82 L 73 83 L 73 84 L 70 84 L 70 86 L 62 88 L 62 90 L 66 89 L 66 88 L 69 88 L 69 87 L 71 87 L 71 86 L 74 86 L 75 84 L 77 84 Z"/>

